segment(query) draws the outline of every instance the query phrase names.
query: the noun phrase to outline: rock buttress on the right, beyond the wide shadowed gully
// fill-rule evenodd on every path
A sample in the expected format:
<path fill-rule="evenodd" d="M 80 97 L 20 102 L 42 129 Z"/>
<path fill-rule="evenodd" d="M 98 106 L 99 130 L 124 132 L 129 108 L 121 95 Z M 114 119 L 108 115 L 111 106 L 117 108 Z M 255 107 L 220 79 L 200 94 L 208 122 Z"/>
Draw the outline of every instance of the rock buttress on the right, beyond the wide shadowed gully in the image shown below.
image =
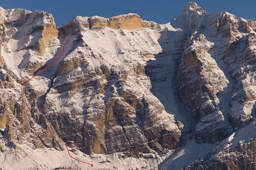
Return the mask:
<path fill-rule="evenodd" d="M 194 5 L 189 9 L 198 10 Z M 232 127 L 238 130 L 252 120 L 251 109 L 248 108 L 252 108 L 255 103 L 255 92 L 253 87 L 248 87 L 252 83 L 248 81 L 251 80 L 245 80 L 245 73 L 248 72 L 238 72 L 239 69 L 243 70 L 241 65 L 254 64 L 249 62 L 255 53 L 250 47 L 254 46 L 255 36 L 252 36 L 254 33 L 249 30 L 254 28 L 248 27 L 251 21 L 236 18 L 227 12 L 218 15 L 200 15 L 198 12 L 197 18 L 200 19 L 198 27 L 195 28 L 196 33 L 193 33 L 187 42 L 181 59 L 180 94 L 186 105 L 192 109 L 193 117 L 199 122 L 196 125 L 196 140 L 199 143 L 216 143 L 226 138 Z M 210 18 L 216 19 L 209 20 Z M 241 29 L 241 25 L 246 27 L 246 30 Z M 209 32 L 211 34 L 208 34 Z M 245 32 L 248 33 L 247 36 L 238 36 Z M 243 40 L 247 42 L 246 45 Z M 251 45 L 249 41 L 252 42 Z M 239 47 L 234 48 L 233 44 L 238 43 Z M 239 61 L 233 56 L 243 59 Z M 249 70 L 251 69 L 253 68 L 250 67 Z M 248 88 L 248 91 L 244 90 L 245 88 Z M 232 127 L 229 127 L 229 121 Z M 209 129 L 205 129 L 205 126 Z"/>

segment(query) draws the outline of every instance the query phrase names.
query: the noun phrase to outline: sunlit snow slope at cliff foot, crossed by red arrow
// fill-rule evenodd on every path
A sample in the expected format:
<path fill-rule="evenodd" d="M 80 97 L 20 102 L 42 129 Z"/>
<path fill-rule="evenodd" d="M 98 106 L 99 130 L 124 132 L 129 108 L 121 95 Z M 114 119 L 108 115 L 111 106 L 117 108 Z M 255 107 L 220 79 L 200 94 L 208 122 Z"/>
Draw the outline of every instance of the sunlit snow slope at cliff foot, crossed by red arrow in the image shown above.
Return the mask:
<path fill-rule="evenodd" d="M 15 151 L 16 150 L 16 151 Z M 67 150 L 55 149 L 30 149 L 20 145 L 17 149 L 8 148 L 1 154 L 1 168 L 3 169 L 157 169 L 163 160 L 155 154 L 148 154 L 148 158 L 127 158 L 124 153 L 111 155 L 93 154 L 85 155 L 79 150 L 70 150 L 70 154 L 77 159 L 93 164 L 93 167 L 78 162 L 68 156 Z"/>

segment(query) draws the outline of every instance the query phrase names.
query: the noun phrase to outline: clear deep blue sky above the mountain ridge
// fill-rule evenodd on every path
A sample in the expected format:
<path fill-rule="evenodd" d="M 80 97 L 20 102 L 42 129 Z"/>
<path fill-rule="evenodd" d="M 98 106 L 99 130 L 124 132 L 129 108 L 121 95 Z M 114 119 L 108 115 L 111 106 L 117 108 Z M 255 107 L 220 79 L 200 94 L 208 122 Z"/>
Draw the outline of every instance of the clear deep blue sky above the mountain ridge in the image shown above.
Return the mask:
<path fill-rule="evenodd" d="M 182 14 L 185 0 L 0 0 L 5 9 L 24 8 L 29 11 L 42 10 L 54 15 L 57 26 L 62 26 L 80 15 L 90 17 L 113 17 L 136 13 L 143 20 L 166 24 Z M 238 17 L 256 21 L 255 0 L 198 0 L 193 1 L 208 13 L 227 11 Z"/>

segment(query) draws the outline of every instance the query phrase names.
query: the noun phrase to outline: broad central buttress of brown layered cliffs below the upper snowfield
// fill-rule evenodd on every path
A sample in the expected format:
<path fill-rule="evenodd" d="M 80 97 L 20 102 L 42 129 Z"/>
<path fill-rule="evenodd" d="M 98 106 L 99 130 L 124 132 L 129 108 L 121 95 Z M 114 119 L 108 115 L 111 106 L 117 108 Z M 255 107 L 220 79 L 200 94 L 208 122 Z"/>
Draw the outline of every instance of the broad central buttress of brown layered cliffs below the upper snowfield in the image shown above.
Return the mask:
<path fill-rule="evenodd" d="M 88 34 L 83 33 L 83 37 Z M 93 67 L 94 58 L 101 59 L 98 57 L 97 51 L 92 58 L 85 48 L 73 51 L 71 60 L 66 58 L 58 65 L 58 76 L 46 95 L 42 112 L 49 115 L 59 136 L 64 141 L 73 141 L 86 153 L 129 151 L 138 155 L 178 147 L 180 130 L 150 92 L 144 68 L 137 64 Z M 82 102 L 77 102 L 77 98 Z M 67 105 L 52 105 L 60 100 Z M 60 108 L 60 113 L 55 114 Z"/>

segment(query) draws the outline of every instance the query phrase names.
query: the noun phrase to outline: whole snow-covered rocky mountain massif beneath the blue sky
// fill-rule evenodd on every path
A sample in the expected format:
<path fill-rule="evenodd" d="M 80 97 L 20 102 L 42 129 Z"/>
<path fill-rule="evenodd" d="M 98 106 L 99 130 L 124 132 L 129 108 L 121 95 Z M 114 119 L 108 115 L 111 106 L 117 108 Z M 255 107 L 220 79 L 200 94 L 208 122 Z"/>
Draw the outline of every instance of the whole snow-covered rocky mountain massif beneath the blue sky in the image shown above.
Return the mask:
<path fill-rule="evenodd" d="M 0 8 L 0 168 L 254 169 L 255 32 L 195 2 L 167 24 Z"/>

